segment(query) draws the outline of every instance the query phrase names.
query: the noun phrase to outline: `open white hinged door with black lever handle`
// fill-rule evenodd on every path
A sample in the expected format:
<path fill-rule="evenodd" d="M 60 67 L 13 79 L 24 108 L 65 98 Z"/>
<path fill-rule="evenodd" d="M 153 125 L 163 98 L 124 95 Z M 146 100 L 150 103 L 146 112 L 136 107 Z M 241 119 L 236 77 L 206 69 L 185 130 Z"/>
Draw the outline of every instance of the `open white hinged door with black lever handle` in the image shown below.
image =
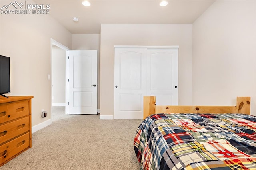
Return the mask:
<path fill-rule="evenodd" d="M 68 51 L 68 113 L 97 114 L 97 50 Z"/>

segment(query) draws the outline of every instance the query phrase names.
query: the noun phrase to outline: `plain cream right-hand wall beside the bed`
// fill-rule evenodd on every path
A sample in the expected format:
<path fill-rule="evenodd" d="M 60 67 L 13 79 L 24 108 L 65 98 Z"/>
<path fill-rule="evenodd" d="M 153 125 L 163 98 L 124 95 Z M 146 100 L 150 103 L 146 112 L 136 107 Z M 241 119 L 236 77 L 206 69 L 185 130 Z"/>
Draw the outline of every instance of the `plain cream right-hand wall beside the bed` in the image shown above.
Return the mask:
<path fill-rule="evenodd" d="M 256 115 L 255 1 L 216 1 L 193 24 L 193 105 L 236 105 Z"/>

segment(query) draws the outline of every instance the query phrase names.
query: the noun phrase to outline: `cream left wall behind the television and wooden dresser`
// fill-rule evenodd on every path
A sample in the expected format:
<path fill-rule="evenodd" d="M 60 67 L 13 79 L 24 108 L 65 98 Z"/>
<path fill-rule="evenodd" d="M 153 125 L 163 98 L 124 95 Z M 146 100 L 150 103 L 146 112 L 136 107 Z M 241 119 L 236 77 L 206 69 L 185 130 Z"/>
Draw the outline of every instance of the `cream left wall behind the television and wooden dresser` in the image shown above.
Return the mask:
<path fill-rule="evenodd" d="M 51 115 L 50 39 L 72 49 L 72 34 L 48 14 L 1 14 L 0 22 L 1 55 L 10 57 L 10 95 L 34 96 L 32 126 L 38 125 Z M 46 118 L 41 118 L 41 109 L 48 112 Z"/>

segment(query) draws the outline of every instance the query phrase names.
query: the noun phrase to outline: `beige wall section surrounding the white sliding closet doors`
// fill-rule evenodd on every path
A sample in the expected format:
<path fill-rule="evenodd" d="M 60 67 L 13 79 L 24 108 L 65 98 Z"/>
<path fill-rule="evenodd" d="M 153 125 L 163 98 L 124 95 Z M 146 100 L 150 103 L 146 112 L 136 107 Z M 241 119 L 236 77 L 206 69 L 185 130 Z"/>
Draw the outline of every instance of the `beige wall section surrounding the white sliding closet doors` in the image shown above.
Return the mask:
<path fill-rule="evenodd" d="M 114 45 L 179 45 L 178 98 L 192 104 L 192 24 L 101 24 L 100 114 L 114 114 Z"/>

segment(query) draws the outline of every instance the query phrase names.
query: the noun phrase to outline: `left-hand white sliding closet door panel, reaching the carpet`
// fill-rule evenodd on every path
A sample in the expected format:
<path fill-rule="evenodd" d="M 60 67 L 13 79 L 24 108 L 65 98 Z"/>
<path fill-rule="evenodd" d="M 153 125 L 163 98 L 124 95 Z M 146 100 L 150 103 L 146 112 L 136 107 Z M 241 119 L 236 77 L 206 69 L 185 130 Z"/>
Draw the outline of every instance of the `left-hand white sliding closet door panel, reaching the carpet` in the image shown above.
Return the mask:
<path fill-rule="evenodd" d="M 114 119 L 143 119 L 146 48 L 115 48 Z"/>

